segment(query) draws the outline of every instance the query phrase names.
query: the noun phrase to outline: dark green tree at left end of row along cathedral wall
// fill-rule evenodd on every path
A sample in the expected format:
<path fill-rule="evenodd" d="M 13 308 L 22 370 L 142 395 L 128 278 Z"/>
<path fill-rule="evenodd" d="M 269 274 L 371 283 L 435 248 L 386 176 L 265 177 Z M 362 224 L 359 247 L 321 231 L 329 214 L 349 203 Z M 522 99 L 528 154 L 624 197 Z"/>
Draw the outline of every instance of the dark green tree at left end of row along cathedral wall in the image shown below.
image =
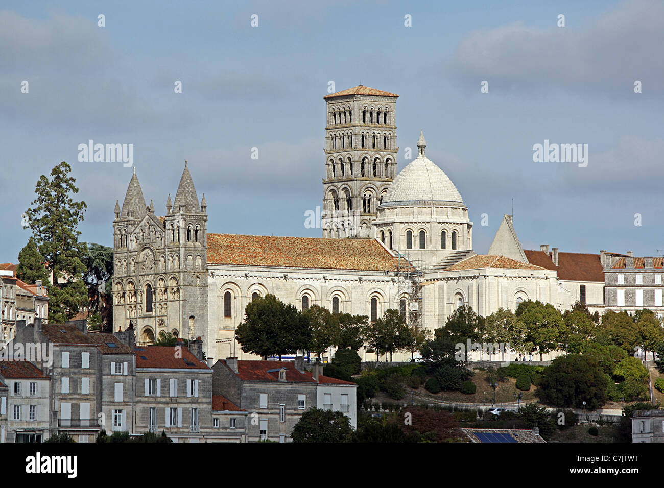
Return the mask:
<path fill-rule="evenodd" d="M 235 337 L 245 353 L 281 359 L 285 354 L 307 349 L 309 326 L 294 305 L 286 305 L 268 294 L 247 303 L 244 313 L 246 318 L 238 325 Z"/>

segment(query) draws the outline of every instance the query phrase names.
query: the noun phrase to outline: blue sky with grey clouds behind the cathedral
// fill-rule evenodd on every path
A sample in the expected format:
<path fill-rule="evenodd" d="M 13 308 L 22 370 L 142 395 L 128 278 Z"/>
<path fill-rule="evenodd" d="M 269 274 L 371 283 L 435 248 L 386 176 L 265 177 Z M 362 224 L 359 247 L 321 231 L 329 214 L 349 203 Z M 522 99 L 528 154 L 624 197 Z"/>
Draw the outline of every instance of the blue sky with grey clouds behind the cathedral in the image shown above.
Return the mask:
<path fill-rule="evenodd" d="M 112 246 L 133 169 L 78 161 L 90 139 L 133 145 L 157 215 L 187 160 L 208 232 L 321 236 L 305 212 L 323 199 L 330 82 L 399 95 L 398 169 L 423 129 L 475 252 L 512 212 L 525 249 L 664 249 L 660 0 L 59 4 L 0 6 L 0 262 L 60 161 L 88 206 L 80 239 Z M 587 144 L 587 165 L 533 161 L 545 140 Z"/>

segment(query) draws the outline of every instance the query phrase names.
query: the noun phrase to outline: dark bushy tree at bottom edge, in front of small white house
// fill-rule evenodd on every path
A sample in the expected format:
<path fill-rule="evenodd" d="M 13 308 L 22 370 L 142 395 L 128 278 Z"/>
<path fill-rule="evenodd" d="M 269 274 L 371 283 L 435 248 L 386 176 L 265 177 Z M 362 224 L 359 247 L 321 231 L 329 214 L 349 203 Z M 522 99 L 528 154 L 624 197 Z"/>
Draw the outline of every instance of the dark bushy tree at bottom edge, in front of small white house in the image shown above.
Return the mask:
<path fill-rule="evenodd" d="M 293 442 L 349 442 L 351 421 L 341 412 L 310 408 L 293 427 Z"/>

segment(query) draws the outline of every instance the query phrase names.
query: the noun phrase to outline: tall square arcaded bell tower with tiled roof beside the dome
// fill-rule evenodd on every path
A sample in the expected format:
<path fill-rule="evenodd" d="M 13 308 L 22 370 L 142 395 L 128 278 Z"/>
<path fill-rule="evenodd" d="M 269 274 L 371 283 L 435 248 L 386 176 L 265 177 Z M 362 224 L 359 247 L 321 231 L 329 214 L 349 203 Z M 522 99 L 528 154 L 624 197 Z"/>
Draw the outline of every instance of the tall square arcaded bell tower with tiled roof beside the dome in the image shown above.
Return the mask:
<path fill-rule="evenodd" d="M 396 176 L 398 95 L 355 86 L 324 97 L 323 237 L 372 237 L 371 222 Z"/>

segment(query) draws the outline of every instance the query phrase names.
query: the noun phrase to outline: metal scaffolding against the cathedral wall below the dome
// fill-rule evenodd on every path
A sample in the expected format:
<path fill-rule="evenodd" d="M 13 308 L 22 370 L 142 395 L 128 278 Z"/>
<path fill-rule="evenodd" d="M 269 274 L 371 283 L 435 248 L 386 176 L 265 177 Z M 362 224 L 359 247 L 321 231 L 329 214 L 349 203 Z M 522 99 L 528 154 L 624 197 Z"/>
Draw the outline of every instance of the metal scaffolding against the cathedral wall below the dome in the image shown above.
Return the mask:
<path fill-rule="evenodd" d="M 422 307 L 422 279 L 426 268 L 424 260 L 410 259 L 408 255 L 396 254 L 396 280 L 399 311 L 408 325 L 422 327 L 424 309 Z M 401 298 L 406 297 L 405 310 Z"/>

